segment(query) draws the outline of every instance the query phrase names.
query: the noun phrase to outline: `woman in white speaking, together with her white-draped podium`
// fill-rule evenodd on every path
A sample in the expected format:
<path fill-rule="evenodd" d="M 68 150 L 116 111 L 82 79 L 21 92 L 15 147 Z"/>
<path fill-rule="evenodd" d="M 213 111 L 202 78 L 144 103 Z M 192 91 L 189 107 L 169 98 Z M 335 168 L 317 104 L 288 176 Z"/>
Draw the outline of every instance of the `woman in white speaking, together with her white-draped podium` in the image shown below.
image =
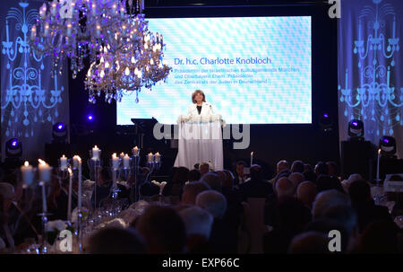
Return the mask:
<path fill-rule="evenodd" d="M 211 162 L 214 169 L 223 169 L 221 116 L 214 114 L 201 90 L 192 93 L 187 116 L 180 116 L 178 153 L 174 166 L 190 170 L 194 164 Z"/>

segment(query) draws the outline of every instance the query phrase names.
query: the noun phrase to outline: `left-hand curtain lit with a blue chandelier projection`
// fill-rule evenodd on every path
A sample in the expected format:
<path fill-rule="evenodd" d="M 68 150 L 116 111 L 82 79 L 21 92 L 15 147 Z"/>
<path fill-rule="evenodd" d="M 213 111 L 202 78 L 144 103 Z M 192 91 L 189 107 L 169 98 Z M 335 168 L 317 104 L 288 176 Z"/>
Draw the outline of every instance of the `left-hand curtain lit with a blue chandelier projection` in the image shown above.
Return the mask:
<path fill-rule="evenodd" d="M 67 66 L 51 76 L 49 58 L 30 55 L 30 29 L 38 18 L 39 0 L 2 1 L 1 22 L 1 145 L 18 137 L 24 159 L 44 156 L 52 125 L 69 123 Z"/>

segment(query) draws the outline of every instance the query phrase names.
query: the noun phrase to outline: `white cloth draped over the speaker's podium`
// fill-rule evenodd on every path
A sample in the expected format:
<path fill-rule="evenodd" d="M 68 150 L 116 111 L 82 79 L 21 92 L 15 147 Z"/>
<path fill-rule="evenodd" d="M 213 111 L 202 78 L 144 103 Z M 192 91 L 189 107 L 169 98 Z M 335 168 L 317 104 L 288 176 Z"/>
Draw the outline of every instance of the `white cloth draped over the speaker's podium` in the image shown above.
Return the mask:
<path fill-rule="evenodd" d="M 198 162 L 211 162 L 223 169 L 222 131 L 219 120 L 179 123 L 178 153 L 174 166 L 192 170 Z"/>

